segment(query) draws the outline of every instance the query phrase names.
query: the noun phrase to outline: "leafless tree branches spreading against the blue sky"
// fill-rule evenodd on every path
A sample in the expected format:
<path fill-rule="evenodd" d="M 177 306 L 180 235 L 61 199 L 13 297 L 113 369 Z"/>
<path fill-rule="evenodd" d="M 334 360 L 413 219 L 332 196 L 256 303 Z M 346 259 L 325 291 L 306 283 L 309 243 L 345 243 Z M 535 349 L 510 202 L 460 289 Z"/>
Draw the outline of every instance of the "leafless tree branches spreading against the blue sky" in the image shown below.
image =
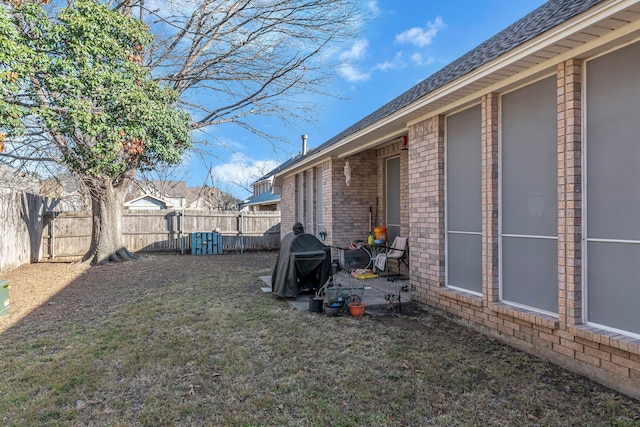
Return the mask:
<path fill-rule="evenodd" d="M 123 0 L 156 39 L 146 63 L 181 94 L 192 128 L 234 123 L 273 138 L 255 116 L 308 120 L 327 94 L 330 52 L 354 37 L 358 0 Z M 330 94 L 335 95 L 335 94 Z"/>

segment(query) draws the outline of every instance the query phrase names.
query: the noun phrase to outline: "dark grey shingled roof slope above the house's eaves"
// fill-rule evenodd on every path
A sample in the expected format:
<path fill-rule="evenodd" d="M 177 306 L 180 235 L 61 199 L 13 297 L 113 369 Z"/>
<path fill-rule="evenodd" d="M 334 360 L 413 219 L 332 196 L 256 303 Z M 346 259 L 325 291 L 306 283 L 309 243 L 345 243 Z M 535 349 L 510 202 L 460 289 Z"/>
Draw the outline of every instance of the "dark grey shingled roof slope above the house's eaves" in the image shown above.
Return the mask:
<path fill-rule="evenodd" d="M 462 55 L 449 65 L 437 71 L 435 74 L 426 78 L 422 82 L 413 86 L 402 95 L 391 100 L 381 108 L 369 114 L 362 120 L 351 125 L 333 138 L 323 144 L 310 150 L 308 154 L 315 154 L 326 148 L 338 143 L 342 139 L 372 125 L 401 108 L 406 107 L 414 101 L 425 95 L 445 86 L 454 80 L 463 77 L 473 70 L 481 67 L 488 62 L 493 61 L 499 56 L 511 51 L 512 49 L 534 39 L 560 25 L 576 15 L 579 15 L 593 6 L 602 3 L 605 0 L 551 0 L 543 4 L 533 12 L 518 20 L 506 29 L 502 30 L 489 40 L 480 44 L 476 48 Z M 287 166 L 291 166 L 302 157 L 296 158 L 296 162 L 287 162 Z M 282 167 L 280 170 L 283 169 Z"/>

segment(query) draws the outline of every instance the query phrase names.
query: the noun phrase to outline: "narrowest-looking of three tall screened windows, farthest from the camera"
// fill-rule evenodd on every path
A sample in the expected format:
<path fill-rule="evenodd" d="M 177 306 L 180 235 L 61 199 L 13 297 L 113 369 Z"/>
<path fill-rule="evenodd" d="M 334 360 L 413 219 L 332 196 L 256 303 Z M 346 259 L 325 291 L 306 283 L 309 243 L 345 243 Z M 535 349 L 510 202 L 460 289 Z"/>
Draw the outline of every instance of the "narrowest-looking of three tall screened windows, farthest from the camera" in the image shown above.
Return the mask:
<path fill-rule="evenodd" d="M 482 293 L 482 111 L 447 117 L 447 286 Z"/>

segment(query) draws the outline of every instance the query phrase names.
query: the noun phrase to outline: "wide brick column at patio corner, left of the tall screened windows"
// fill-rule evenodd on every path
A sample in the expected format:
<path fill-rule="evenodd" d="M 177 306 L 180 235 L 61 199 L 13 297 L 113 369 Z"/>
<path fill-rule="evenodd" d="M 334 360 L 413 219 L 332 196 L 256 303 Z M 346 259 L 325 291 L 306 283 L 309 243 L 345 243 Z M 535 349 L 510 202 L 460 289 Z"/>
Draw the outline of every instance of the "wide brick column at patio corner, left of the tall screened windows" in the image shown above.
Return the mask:
<path fill-rule="evenodd" d="M 444 116 L 409 128 L 409 257 L 421 303 L 444 285 Z"/>

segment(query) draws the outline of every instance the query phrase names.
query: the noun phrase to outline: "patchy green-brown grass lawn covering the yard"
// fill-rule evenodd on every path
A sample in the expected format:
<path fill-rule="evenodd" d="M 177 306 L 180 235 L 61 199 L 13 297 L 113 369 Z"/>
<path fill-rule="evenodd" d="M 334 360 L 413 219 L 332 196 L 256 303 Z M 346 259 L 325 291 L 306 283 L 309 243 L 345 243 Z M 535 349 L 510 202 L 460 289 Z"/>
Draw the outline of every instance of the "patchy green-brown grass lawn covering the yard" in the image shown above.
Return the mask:
<path fill-rule="evenodd" d="M 0 425 L 640 425 L 638 401 L 434 314 L 296 311 L 260 291 L 275 258 L 2 275 L 66 282 L 2 329 Z"/>

